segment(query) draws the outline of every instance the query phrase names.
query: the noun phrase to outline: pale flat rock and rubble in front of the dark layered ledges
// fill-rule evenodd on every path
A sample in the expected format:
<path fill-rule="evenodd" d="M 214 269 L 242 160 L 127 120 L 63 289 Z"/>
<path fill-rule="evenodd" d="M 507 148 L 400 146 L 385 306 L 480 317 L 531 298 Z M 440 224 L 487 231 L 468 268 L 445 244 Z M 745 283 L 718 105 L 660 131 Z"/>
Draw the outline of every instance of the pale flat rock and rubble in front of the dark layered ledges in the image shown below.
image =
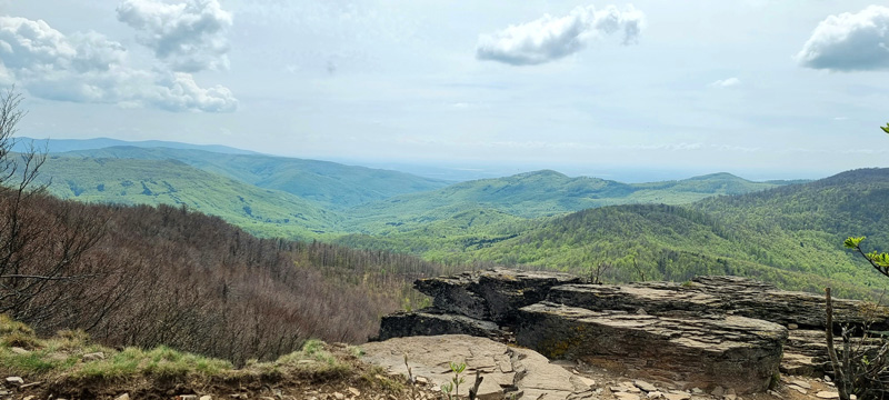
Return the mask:
<path fill-rule="evenodd" d="M 408 337 L 363 346 L 367 362 L 384 367 L 390 374 L 407 376 L 404 354 L 411 376 L 424 389 L 437 392 L 451 380 L 449 363 L 465 362 L 461 373 L 475 383 L 476 371 L 482 377 L 479 399 L 603 399 L 603 400 L 775 400 L 836 399 L 833 383 L 823 378 L 785 376 L 771 390 L 738 396 L 717 387 L 710 391 L 679 389 L 685 382 L 633 379 L 628 364 L 591 366 L 581 361 L 549 361 L 539 353 L 506 346 L 489 339 L 468 336 Z M 629 363 L 632 364 L 632 363 Z M 466 393 L 462 389 L 461 394 Z"/>

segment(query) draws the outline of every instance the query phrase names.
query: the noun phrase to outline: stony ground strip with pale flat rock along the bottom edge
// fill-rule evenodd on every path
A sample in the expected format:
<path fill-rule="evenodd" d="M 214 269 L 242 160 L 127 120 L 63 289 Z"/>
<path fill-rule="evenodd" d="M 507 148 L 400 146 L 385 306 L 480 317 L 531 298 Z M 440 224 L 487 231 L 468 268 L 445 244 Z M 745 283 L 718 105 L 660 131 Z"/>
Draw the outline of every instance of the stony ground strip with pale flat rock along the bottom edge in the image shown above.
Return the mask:
<path fill-rule="evenodd" d="M 602 400 L 805 400 L 835 399 L 836 389 L 822 378 L 781 377 L 772 390 L 737 396 L 717 388 L 703 392 L 680 390 L 681 382 L 639 380 L 625 366 L 609 368 L 576 361 L 550 362 L 535 351 L 468 336 L 412 337 L 367 343 L 357 353 L 344 344 L 324 344 L 339 368 L 318 368 L 303 359 L 299 367 L 277 371 L 256 367 L 206 377 L 194 373 L 161 379 L 137 376 L 119 379 L 51 379 L 3 377 L 2 400 L 77 399 L 263 399 L 263 400 L 431 400 L 446 399 L 441 384 L 453 377 L 449 362 L 465 362 L 460 398 L 482 377 L 479 399 L 602 399 Z M 409 382 L 404 364 L 411 368 Z M 88 354 L 83 354 L 88 356 Z M 91 358 L 103 356 L 93 354 Z M 81 357 L 82 359 L 83 357 Z M 0 371 L 4 371 L 0 366 Z"/>

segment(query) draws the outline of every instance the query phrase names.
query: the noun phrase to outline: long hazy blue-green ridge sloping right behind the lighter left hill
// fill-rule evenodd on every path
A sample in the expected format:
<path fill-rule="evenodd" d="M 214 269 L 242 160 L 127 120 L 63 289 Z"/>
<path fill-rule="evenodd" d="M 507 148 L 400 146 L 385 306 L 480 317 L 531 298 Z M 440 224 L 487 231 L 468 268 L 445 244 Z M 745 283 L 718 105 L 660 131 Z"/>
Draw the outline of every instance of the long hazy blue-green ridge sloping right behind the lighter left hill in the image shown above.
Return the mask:
<path fill-rule="evenodd" d="M 170 148 L 110 147 L 62 153 L 90 158 L 182 161 L 204 171 L 342 209 L 450 182 L 409 173 L 264 154 L 227 154 Z"/>

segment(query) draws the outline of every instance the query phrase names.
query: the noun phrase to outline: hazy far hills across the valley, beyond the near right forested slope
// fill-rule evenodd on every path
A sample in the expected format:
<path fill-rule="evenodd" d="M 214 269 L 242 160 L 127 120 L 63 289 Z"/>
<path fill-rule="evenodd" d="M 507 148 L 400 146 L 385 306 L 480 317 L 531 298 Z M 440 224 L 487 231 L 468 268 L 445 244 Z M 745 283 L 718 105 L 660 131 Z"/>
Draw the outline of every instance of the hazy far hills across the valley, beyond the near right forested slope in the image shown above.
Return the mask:
<path fill-rule="evenodd" d="M 112 143 L 98 140 L 80 144 L 87 142 Z M 303 239 L 311 236 L 307 232 L 329 236 L 406 231 L 476 209 L 522 220 L 623 203 L 689 203 L 788 183 L 751 182 L 717 173 L 628 184 L 542 170 L 450 184 L 328 161 L 132 146 L 53 152 L 46 172 L 53 179 L 51 191 L 62 198 L 184 203 L 260 234 L 291 232 Z M 249 208 L 251 212 L 246 211 L 237 193 L 250 194 L 254 202 Z M 288 207 L 299 210 L 284 212 Z M 293 218 L 294 214 L 300 217 Z"/>

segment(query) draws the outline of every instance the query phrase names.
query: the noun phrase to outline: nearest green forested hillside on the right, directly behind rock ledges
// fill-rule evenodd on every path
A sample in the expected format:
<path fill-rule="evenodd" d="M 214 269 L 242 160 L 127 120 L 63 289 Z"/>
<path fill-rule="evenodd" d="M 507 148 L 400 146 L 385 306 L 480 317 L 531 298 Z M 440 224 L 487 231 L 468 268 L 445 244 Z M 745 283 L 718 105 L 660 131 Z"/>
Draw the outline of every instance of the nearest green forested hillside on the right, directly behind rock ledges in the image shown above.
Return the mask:
<path fill-rule="evenodd" d="M 609 263 L 607 280 L 740 274 L 810 291 L 833 286 L 845 296 L 865 297 L 872 293 L 868 288 L 887 288 L 889 281 L 842 249 L 842 239 L 866 234 L 868 247 L 889 248 L 883 216 L 889 216 L 889 169 L 872 169 L 689 206 L 615 206 L 488 224 L 462 236 L 414 230 L 383 239 L 348 236 L 340 242 L 400 246 L 447 262 L 573 272 Z"/>

